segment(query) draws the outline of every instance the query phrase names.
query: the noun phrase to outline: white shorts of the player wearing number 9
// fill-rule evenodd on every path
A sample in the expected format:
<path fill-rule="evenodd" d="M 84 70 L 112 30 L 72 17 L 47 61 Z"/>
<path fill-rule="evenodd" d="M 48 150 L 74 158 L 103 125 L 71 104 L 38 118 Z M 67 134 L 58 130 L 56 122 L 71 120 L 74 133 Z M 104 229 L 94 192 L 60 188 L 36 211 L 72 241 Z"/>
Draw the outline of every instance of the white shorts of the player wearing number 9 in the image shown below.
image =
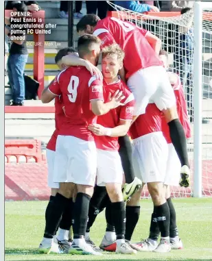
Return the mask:
<path fill-rule="evenodd" d="M 54 182 L 95 185 L 97 150 L 94 141 L 58 135 L 54 165 Z"/>

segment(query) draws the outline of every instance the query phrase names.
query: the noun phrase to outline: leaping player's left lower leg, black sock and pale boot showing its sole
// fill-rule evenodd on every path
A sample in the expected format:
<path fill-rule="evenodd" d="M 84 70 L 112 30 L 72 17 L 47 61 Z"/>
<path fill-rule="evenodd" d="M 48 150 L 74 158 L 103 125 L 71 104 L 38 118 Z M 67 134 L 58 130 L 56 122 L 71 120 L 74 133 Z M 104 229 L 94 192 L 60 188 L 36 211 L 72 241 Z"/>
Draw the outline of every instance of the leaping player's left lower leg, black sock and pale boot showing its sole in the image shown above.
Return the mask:
<path fill-rule="evenodd" d="M 134 177 L 132 147 L 128 135 L 119 137 L 119 156 L 121 157 L 123 173 L 126 179 L 126 184 L 123 186 L 123 200 L 127 201 L 132 197 L 134 192 L 141 188 L 142 184 L 140 179 Z"/>

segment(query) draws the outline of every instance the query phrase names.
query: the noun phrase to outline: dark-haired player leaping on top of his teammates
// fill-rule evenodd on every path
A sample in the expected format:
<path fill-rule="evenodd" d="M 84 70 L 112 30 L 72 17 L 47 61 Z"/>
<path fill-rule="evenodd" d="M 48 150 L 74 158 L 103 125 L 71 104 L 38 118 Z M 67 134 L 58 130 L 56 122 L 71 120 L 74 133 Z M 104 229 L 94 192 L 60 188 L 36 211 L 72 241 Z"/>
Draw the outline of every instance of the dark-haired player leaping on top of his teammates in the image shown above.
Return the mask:
<path fill-rule="evenodd" d="M 102 40 L 102 47 L 116 42 L 126 53 L 123 67 L 127 84 L 135 99 L 134 120 L 145 113 L 145 108 L 153 101 L 165 116 L 169 134 L 181 163 L 180 186 L 189 186 L 189 160 L 184 129 L 178 119 L 176 99 L 169 83 L 163 63 L 158 58 L 160 40 L 150 32 L 133 23 L 115 17 L 102 20 L 95 14 L 83 16 L 77 25 L 82 34 L 93 34 Z M 153 77 L 154 75 L 154 77 Z M 124 73 L 122 73 L 122 78 Z"/>

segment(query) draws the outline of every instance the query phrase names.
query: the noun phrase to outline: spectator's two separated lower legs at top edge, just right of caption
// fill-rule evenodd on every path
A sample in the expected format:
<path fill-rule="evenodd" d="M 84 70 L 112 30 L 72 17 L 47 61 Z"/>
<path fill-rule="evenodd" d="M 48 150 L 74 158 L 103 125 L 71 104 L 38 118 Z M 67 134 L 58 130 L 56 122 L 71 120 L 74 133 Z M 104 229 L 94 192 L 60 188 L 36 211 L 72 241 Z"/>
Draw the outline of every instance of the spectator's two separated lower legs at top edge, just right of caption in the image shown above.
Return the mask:
<path fill-rule="evenodd" d="M 68 18 L 69 1 L 60 1 L 60 18 Z M 74 18 L 82 18 L 82 1 L 75 1 L 75 11 L 73 14 Z"/>

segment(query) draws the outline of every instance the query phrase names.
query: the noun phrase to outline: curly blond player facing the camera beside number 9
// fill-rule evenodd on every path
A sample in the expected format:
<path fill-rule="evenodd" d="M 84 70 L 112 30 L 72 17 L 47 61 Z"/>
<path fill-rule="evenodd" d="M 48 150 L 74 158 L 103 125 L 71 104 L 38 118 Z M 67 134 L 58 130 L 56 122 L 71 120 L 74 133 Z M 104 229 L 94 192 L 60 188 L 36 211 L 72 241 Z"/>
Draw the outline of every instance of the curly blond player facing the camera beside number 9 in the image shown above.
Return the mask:
<path fill-rule="evenodd" d="M 110 201 L 112 202 L 111 210 L 113 210 L 113 223 L 117 234 L 115 250 L 117 253 L 136 253 L 136 251 L 127 245 L 124 240 L 125 223 L 121 222 L 125 219 L 125 204 L 121 192 L 123 169 L 121 166 L 121 158 L 118 153 L 118 137 L 127 134 L 130 123 L 132 122 L 134 97 L 130 90 L 128 90 L 126 84 L 117 76 L 119 69 L 123 66 L 123 51 L 118 45 L 111 45 L 102 52 L 104 100 L 109 100 L 108 97 L 117 92 L 117 90 L 121 90 L 125 98 L 121 101 L 123 103 L 122 106 L 119 106 L 115 110 L 110 110 L 107 114 L 98 116 L 97 123 L 89 125 L 89 129 L 96 135 L 97 185 L 106 186 Z M 74 58 L 73 55 L 72 57 L 69 56 L 69 58 L 69 65 L 84 65 L 84 61 Z M 75 60 L 75 62 L 73 62 L 73 60 Z M 93 209 L 97 210 L 97 208 Z M 90 238 L 86 239 L 87 242 L 91 242 L 91 240 L 89 240 Z M 114 241 L 112 243 L 114 243 Z M 102 245 L 106 245 L 106 243 L 104 242 Z"/>

